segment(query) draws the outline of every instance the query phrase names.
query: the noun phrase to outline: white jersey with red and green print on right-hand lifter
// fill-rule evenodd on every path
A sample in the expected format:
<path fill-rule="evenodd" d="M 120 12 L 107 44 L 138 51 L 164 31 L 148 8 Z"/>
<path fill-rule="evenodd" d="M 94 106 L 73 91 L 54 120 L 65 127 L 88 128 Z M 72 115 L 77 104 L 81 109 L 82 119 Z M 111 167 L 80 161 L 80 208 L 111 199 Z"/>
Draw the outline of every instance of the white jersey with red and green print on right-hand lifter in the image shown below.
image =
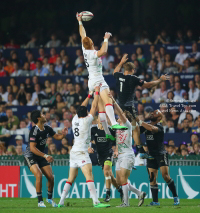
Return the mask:
<path fill-rule="evenodd" d="M 116 131 L 116 145 L 118 145 L 118 153 L 133 154 L 132 149 L 132 125 L 127 120 L 124 126 L 128 127 L 127 130 Z"/>

